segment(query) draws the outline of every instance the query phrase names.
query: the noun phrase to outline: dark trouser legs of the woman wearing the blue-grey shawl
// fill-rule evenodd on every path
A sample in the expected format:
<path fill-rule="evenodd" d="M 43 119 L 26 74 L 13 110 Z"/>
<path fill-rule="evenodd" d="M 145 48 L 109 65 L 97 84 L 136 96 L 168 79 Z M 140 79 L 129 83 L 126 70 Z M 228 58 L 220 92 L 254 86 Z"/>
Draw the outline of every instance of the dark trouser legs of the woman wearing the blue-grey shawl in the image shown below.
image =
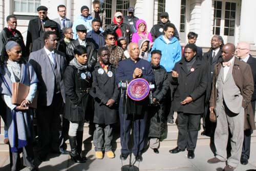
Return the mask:
<path fill-rule="evenodd" d="M 21 151 L 23 152 L 23 165 L 26 167 L 34 168 L 34 164 L 33 164 L 34 153 L 33 153 L 32 139 L 28 142 L 28 144 L 25 147 L 21 149 Z M 19 157 L 20 152 L 12 153 L 12 166 L 11 166 L 12 171 L 21 169 L 21 163 L 20 163 L 20 157 Z"/>

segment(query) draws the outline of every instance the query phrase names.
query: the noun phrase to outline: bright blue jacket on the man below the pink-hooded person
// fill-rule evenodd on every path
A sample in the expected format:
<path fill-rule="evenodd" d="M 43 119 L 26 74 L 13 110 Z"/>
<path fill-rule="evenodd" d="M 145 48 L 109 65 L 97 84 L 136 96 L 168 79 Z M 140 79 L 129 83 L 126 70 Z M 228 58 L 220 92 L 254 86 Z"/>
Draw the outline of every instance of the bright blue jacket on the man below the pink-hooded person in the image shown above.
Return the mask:
<path fill-rule="evenodd" d="M 176 62 L 181 59 L 181 46 L 176 37 L 173 37 L 168 44 L 164 41 L 164 35 L 159 36 L 153 44 L 153 50 L 160 50 L 162 57 L 160 65 L 164 67 L 167 72 L 171 72 Z M 151 61 L 151 57 L 148 58 Z"/>

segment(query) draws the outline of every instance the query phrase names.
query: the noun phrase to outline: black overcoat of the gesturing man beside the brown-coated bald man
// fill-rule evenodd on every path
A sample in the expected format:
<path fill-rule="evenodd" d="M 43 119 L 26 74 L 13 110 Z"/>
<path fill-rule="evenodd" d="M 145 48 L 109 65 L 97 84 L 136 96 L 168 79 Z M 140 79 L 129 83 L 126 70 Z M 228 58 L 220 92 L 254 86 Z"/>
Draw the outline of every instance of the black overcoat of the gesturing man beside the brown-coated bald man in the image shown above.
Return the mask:
<path fill-rule="evenodd" d="M 179 77 L 171 78 L 171 83 L 177 86 L 172 101 L 172 110 L 189 114 L 202 114 L 204 112 L 204 94 L 207 87 L 205 62 L 197 59 L 188 71 L 185 59 L 181 59 L 175 64 L 173 70 L 178 72 Z M 192 97 L 193 101 L 181 105 L 181 101 L 188 96 Z"/>

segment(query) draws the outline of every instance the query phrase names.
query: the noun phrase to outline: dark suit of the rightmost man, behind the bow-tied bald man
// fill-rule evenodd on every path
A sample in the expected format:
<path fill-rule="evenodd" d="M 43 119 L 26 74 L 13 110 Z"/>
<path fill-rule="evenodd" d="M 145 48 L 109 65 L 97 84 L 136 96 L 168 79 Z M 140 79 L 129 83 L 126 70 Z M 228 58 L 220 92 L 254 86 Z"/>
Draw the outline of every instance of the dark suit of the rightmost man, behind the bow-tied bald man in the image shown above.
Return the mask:
<path fill-rule="evenodd" d="M 256 58 L 249 56 L 247 63 L 251 67 L 253 83 L 254 83 L 254 92 L 251 96 L 251 106 L 253 110 L 253 114 L 255 113 L 255 101 L 256 101 Z M 251 134 L 252 130 L 248 129 L 244 131 L 244 142 L 242 149 L 242 156 L 249 159 L 250 158 L 250 145 L 251 145 Z"/>

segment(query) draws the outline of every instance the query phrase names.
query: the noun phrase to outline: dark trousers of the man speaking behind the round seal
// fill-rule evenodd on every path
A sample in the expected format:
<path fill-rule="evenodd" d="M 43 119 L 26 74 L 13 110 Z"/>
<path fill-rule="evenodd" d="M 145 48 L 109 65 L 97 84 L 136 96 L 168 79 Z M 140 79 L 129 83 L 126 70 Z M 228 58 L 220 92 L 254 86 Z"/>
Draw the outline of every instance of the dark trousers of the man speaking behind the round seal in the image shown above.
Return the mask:
<path fill-rule="evenodd" d="M 130 141 L 130 133 L 132 127 L 131 115 L 122 114 L 122 109 L 119 109 L 119 118 L 120 118 L 120 138 L 121 138 L 121 153 L 127 154 L 130 153 L 129 150 L 129 141 Z M 132 152 L 135 156 L 142 153 L 144 148 L 144 140 L 145 140 L 145 130 L 146 130 L 146 122 L 147 122 L 147 113 L 141 115 L 136 115 L 134 124 L 133 124 L 133 148 Z"/>

